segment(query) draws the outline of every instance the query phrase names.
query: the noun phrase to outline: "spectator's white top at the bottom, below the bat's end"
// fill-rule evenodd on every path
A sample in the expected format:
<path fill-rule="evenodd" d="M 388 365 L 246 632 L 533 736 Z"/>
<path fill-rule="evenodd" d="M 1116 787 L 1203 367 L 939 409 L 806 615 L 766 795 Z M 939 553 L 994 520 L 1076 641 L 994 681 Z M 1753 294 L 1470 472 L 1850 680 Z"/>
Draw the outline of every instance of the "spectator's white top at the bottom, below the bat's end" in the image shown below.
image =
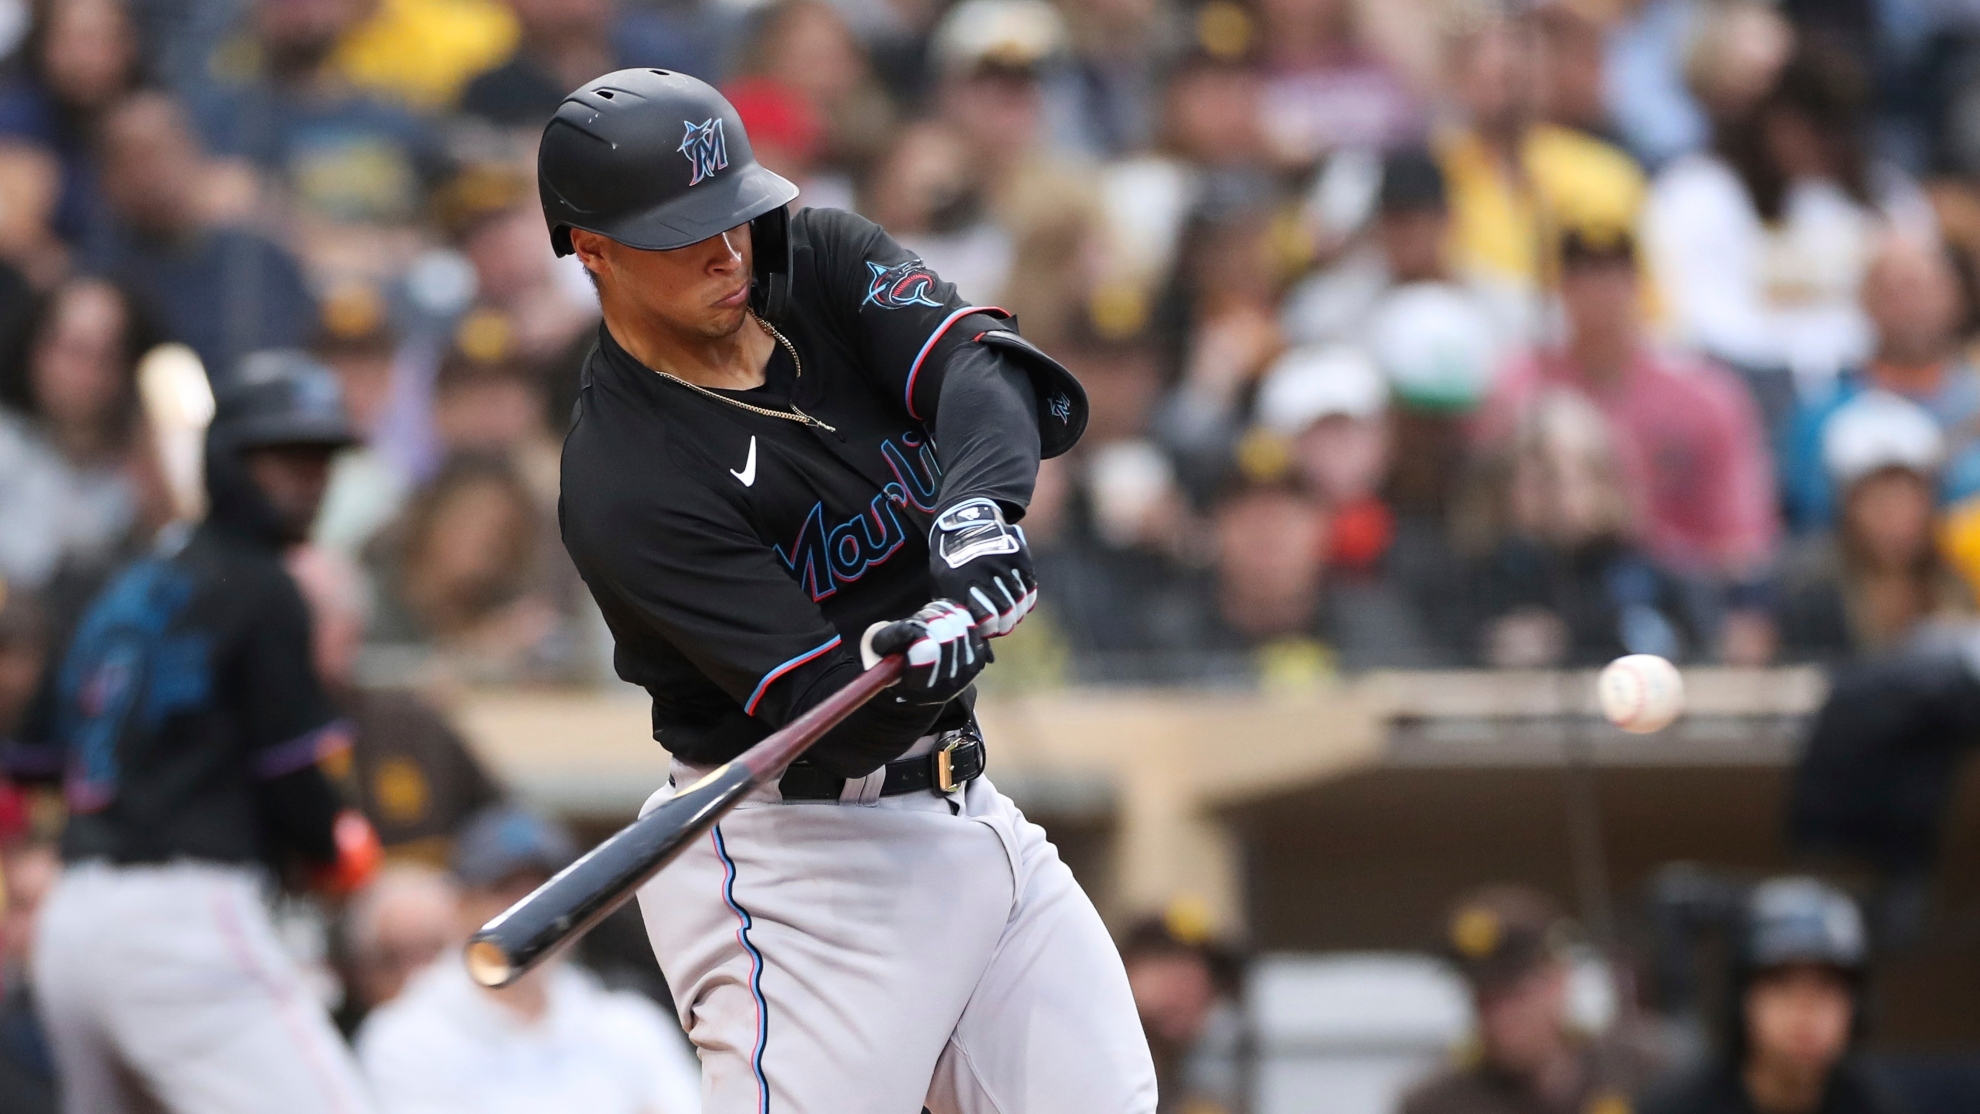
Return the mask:
<path fill-rule="evenodd" d="M 548 1009 L 525 1021 L 457 958 L 422 972 L 358 1031 L 384 1114 L 699 1114 L 701 1068 L 657 1005 L 588 972 L 544 972 Z"/>

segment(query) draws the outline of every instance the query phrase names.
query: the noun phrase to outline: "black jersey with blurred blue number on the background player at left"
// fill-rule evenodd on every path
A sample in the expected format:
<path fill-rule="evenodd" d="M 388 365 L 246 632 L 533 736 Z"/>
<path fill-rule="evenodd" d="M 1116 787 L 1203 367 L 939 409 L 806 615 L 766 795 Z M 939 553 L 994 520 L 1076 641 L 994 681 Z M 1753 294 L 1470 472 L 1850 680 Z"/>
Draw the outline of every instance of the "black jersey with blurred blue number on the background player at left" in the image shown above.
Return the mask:
<path fill-rule="evenodd" d="M 97 594 L 8 766 L 63 780 L 69 861 L 331 861 L 317 760 L 345 744 L 295 582 L 269 546 L 208 524 Z"/>

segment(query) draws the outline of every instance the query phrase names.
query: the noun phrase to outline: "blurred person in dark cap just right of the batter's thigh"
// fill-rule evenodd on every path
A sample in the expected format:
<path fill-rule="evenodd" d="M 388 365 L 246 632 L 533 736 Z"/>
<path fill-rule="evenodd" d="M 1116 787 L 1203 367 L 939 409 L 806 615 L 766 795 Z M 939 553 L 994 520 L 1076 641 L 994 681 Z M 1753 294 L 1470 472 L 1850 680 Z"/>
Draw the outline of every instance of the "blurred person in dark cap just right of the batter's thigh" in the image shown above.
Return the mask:
<path fill-rule="evenodd" d="M 1154 1055 L 1156 1114 L 1238 1110 L 1241 964 L 1188 900 L 1121 938 L 1121 962 Z"/>

